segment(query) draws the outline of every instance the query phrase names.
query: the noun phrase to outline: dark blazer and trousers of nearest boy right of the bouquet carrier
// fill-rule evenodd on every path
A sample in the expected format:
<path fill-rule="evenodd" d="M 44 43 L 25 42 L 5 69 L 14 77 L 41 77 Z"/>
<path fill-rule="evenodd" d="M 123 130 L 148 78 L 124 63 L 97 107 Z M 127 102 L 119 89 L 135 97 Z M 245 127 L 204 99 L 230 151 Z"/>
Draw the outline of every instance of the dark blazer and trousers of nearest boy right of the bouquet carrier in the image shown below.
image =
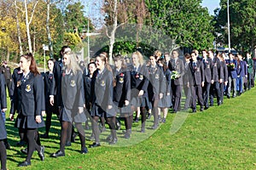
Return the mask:
<path fill-rule="evenodd" d="M 204 101 L 202 98 L 202 82 L 205 82 L 205 69 L 204 65 L 201 61 L 190 61 L 189 68 L 191 71 L 191 77 L 189 77 L 189 85 L 191 88 L 192 94 L 192 110 L 196 111 L 196 100 L 198 99 L 198 103 L 201 106 L 201 111 L 203 111 Z"/>

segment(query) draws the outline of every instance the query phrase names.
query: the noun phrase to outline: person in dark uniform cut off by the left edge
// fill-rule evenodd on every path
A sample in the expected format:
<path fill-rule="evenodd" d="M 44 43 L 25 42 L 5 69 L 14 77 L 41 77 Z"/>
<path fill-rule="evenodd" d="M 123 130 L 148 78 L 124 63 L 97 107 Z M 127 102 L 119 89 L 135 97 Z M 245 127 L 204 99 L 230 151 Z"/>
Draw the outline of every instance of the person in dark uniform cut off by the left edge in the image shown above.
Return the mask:
<path fill-rule="evenodd" d="M 6 89 L 5 89 L 5 78 L 0 73 L 0 109 L 1 112 L 7 111 L 7 100 L 6 100 Z M 4 145 L 4 139 L 7 139 L 7 133 L 5 128 L 5 122 L 3 120 L 3 114 L 0 114 L 0 161 L 1 169 L 6 169 L 6 148 Z"/>

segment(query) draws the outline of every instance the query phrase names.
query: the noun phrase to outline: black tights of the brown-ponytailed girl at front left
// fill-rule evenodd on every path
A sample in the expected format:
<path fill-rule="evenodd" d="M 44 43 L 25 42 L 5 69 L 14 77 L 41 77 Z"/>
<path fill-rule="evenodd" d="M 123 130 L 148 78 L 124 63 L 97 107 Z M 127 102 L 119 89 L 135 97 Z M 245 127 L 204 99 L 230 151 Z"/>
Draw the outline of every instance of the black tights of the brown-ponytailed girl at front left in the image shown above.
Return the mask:
<path fill-rule="evenodd" d="M 30 162 L 34 150 L 41 150 L 41 146 L 37 144 L 36 139 L 38 139 L 38 129 L 30 128 L 26 129 L 26 139 L 27 139 L 27 156 L 26 161 Z"/>

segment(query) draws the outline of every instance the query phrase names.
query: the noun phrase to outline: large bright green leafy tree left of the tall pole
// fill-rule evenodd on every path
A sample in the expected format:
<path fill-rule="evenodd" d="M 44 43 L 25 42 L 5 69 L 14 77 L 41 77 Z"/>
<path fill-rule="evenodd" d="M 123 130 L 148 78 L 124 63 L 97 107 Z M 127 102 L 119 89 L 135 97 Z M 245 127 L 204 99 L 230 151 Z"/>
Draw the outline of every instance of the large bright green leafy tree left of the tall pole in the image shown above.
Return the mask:
<path fill-rule="evenodd" d="M 151 26 L 172 39 L 172 48 L 212 48 L 212 17 L 201 7 L 201 0 L 146 0 L 146 4 Z"/>

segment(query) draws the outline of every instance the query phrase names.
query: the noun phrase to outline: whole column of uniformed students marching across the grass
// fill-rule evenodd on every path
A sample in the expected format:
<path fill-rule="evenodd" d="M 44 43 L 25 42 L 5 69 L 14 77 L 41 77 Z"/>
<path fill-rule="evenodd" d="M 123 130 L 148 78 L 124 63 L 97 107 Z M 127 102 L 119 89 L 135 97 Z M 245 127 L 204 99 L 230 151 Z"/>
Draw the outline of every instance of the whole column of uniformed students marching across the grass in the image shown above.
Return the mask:
<path fill-rule="evenodd" d="M 212 50 L 197 50 L 184 54 L 177 49 L 171 54 L 159 50 L 144 61 L 139 51 L 131 59 L 121 55 L 113 57 L 110 65 L 108 54 L 101 53 L 91 59 L 85 67 L 71 48 L 63 46 L 61 60 L 49 59 L 49 71 L 40 73 L 32 54 L 20 56 L 20 66 L 12 74 L 10 90 L 11 108 L 9 118 L 15 119 L 19 129 L 20 142 L 27 145 L 21 150 L 26 160 L 19 167 L 31 165 L 32 154 L 38 151 L 44 161 L 44 146 L 40 143 L 39 127 L 45 127 L 41 138 L 49 138 L 51 117 L 55 113 L 61 123 L 60 150 L 52 157 L 65 156 L 65 147 L 75 138 L 73 127 L 77 128 L 81 154 L 88 152 L 85 146 L 85 128 L 91 123 L 90 139 L 95 140 L 90 148 L 101 146 L 100 134 L 108 123 L 109 144 L 116 144 L 117 116 L 125 120 L 124 138 L 131 138 L 132 122 L 141 116 L 141 133 L 145 133 L 147 118 L 154 116 L 152 129 L 166 122 L 168 110 L 196 112 L 207 110 L 217 98 L 222 105 L 224 95 L 235 98 L 254 86 L 255 69 L 251 54 L 245 59 L 240 54 L 213 54 Z M 6 89 L 3 74 L 0 74 L 1 109 L 7 111 Z M 182 103 L 182 94 L 185 101 Z M 183 104 L 183 105 L 182 105 Z M 163 116 L 160 112 L 163 112 Z M 133 114 L 136 112 L 135 120 Z M 17 116 L 15 116 L 17 113 Z M 46 114 L 44 122 L 43 116 Z M 102 128 L 100 128 L 101 124 Z M 0 116 L 0 158 L 1 168 L 6 169 L 7 133 L 3 114 Z"/>

